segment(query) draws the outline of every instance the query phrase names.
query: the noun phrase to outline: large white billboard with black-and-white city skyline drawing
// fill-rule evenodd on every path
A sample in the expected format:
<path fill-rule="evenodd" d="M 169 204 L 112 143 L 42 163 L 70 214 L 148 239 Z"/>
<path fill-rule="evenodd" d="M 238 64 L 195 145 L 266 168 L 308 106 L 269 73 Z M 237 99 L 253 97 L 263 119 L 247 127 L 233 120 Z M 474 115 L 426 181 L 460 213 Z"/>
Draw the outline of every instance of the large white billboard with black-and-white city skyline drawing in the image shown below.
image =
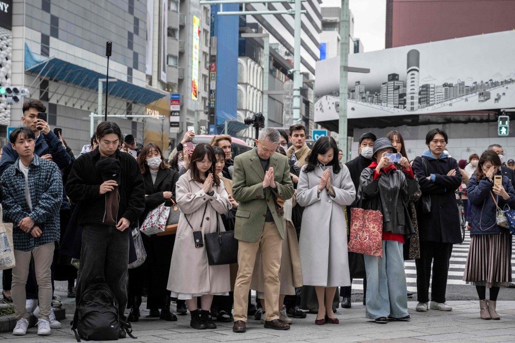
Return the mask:
<path fill-rule="evenodd" d="M 437 114 L 515 107 L 515 31 L 349 55 L 347 115 Z M 337 120 L 339 57 L 319 61 L 315 121 Z"/>

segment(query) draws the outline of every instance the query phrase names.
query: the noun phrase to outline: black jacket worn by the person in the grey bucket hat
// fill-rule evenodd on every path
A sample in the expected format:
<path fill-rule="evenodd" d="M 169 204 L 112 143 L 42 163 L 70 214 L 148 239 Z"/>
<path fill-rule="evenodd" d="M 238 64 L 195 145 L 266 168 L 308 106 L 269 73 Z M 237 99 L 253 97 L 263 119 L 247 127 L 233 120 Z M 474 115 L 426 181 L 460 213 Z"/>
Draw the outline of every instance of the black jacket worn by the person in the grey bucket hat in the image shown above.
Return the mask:
<path fill-rule="evenodd" d="M 419 189 L 417 177 L 405 171 L 391 168 L 381 170 L 381 176 L 374 180 L 376 164 L 370 165 L 359 178 L 358 205 L 363 196 L 362 207 L 379 210 L 383 214 L 383 232 L 400 233 L 409 237 L 415 233 L 407 204 L 409 198 Z M 359 207 L 359 206 L 358 206 Z"/>

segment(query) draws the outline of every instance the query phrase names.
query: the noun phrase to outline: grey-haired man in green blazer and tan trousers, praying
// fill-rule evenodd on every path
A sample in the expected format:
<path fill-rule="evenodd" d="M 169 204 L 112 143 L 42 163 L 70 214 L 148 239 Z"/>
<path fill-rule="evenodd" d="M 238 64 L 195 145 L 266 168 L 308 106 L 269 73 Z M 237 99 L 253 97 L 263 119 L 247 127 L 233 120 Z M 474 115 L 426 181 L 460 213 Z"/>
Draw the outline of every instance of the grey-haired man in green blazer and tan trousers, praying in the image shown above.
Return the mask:
<path fill-rule="evenodd" d="M 232 190 L 239 203 L 234 237 L 238 240 L 238 275 L 234 286 L 233 332 L 245 332 L 247 294 L 252 280 L 256 253 L 261 249 L 265 280 L 265 328 L 287 330 L 279 320 L 279 268 L 285 236 L 283 208 L 294 188 L 286 156 L 276 153 L 280 134 L 266 128 L 256 139 L 256 147 L 234 159 Z"/>

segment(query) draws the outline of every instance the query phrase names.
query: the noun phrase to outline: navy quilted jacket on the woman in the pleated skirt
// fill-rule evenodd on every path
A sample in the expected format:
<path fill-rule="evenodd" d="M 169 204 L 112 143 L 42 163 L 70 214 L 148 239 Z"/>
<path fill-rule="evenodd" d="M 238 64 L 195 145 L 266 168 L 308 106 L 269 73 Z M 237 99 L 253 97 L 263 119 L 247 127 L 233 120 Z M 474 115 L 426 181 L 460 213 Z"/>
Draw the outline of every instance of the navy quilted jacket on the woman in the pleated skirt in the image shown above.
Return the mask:
<path fill-rule="evenodd" d="M 497 175 L 501 175 L 498 173 Z M 503 176 L 503 187 L 510 196 L 508 200 L 504 200 L 501 196 L 492 192 L 497 205 L 503 209 L 505 205 L 515 209 L 515 189 L 508 177 Z M 473 174 L 467 186 L 467 195 L 471 206 L 471 223 L 470 234 L 499 234 L 501 231 L 506 232 L 495 223 L 495 203 L 490 195 L 492 184 L 488 179 L 476 179 Z"/>

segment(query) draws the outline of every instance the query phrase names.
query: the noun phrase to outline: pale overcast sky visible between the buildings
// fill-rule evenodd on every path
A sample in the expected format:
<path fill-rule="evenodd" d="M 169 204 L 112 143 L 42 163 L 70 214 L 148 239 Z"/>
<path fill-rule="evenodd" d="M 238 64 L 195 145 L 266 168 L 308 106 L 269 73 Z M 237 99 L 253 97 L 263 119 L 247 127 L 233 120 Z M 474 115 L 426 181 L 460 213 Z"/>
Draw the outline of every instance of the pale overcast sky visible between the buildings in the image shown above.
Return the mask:
<path fill-rule="evenodd" d="M 322 0 L 323 7 L 340 7 L 340 0 Z M 349 0 L 354 15 L 354 38 L 361 39 L 365 52 L 385 48 L 386 0 Z"/>

